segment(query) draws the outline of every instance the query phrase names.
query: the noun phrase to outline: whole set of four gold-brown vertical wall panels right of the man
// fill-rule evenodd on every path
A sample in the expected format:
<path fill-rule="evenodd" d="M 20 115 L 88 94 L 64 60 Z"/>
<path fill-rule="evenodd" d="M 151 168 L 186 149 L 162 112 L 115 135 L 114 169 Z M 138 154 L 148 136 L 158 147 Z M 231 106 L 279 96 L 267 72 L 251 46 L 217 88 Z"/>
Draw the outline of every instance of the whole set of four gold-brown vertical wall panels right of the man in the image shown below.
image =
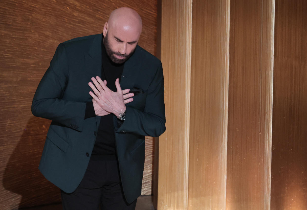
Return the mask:
<path fill-rule="evenodd" d="M 181 7 L 190 1 L 169 2 L 162 1 L 161 57 L 168 62 L 166 103 L 171 110 L 169 131 L 160 139 L 167 147 L 159 147 L 158 207 L 187 209 L 188 196 L 188 209 L 306 209 L 307 2 L 230 0 L 228 87 L 220 83 L 227 78 L 227 64 L 217 62 L 227 48 L 221 47 L 227 43 L 220 32 L 227 31 L 221 21 L 227 17 L 223 1 L 193 1 L 192 29 L 190 10 Z M 186 68 L 189 50 L 191 69 Z M 173 83 L 181 91 L 173 90 Z M 226 98 L 227 88 L 228 125 L 218 111 L 226 107 L 220 99 Z M 227 177 L 222 176 L 225 167 Z"/>

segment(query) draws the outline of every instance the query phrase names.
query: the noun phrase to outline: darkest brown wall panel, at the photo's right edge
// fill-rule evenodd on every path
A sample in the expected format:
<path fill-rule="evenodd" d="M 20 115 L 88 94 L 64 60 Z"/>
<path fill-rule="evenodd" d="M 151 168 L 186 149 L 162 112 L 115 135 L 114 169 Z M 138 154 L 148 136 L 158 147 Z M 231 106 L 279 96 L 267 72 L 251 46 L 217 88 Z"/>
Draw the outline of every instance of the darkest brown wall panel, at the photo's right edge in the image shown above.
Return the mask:
<path fill-rule="evenodd" d="M 307 1 L 276 0 L 271 210 L 307 209 Z"/>

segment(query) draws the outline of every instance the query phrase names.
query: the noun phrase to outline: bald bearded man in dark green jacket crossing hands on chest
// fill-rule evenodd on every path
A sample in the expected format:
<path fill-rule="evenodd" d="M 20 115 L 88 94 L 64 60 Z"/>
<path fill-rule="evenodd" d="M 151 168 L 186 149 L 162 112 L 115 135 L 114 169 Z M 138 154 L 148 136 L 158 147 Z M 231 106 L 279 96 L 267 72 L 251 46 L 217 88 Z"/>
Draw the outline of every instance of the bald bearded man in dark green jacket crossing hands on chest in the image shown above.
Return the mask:
<path fill-rule="evenodd" d="M 161 61 L 138 46 L 142 19 L 115 9 L 103 33 L 61 43 L 32 102 L 52 120 L 39 170 L 64 209 L 134 209 L 145 136 L 165 131 Z"/>

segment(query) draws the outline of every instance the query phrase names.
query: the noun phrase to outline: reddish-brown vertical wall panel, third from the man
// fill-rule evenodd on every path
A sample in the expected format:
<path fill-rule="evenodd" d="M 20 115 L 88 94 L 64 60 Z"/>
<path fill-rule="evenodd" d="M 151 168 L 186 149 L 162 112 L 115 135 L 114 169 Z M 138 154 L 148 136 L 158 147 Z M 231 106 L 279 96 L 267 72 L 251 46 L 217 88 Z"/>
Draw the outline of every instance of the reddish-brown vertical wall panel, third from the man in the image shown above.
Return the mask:
<path fill-rule="evenodd" d="M 274 0 L 231 0 L 226 209 L 270 209 Z"/>

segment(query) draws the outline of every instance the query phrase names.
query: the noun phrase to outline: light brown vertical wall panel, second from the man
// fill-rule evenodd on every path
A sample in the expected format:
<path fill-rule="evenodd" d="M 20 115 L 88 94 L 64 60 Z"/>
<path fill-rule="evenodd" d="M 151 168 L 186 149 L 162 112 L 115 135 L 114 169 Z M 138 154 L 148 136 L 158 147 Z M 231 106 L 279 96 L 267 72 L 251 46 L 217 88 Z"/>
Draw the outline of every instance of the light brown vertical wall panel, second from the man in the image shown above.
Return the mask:
<path fill-rule="evenodd" d="M 193 0 L 188 209 L 225 209 L 230 0 Z"/>

